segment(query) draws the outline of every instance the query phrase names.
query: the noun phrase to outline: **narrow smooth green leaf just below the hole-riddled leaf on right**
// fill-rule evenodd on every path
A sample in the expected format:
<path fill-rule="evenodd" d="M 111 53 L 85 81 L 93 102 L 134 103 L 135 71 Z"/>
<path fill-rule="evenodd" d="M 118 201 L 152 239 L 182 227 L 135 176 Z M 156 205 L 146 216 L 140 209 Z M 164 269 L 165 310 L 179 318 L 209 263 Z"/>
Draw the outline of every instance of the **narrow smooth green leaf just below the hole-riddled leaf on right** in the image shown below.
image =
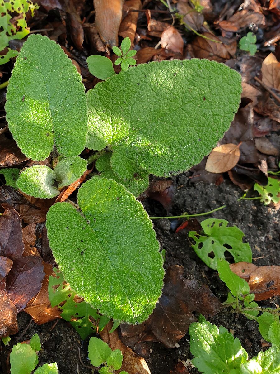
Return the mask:
<path fill-rule="evenodd" d="M 225 282 L 233 296 L 243 299 L 243 295 L 249 294 L 250 288 L 248 283 L 234 274 L 234 272 L 230 270 L 229 263 L 223 258 L 218 258 L 217 270 L 219 272 L 219 277 Z"/>

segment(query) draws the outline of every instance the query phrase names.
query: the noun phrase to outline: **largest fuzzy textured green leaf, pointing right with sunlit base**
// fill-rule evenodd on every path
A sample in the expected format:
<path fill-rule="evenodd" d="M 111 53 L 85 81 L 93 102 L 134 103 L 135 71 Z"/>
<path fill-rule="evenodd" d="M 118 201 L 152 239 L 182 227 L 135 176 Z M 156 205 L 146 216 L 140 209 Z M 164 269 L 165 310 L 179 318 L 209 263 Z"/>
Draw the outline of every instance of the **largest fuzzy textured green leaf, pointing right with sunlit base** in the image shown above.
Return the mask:
<path fill-rule="evenodd" d="M 240 94 L 240 75 L 215 61 L 139 64 L 88 91 L 87 147 L 111 145 L 112 159 L 126 148 L 119 164 L 136 160 L 137 168 L 150 174 L 178 174 L 199 163 L 223 137 Z"/>

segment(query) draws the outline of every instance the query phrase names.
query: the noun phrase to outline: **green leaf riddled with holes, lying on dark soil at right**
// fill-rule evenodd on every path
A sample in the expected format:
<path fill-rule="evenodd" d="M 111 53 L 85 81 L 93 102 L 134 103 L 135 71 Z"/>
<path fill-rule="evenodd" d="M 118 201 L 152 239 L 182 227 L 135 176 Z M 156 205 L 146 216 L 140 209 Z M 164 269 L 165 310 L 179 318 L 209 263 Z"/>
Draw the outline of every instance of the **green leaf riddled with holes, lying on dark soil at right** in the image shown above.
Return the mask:
<path fill-rule="evenodd" d="M 209 218 L 201 222 L 205 235 L 190 231 L 189 237 L 195 240 L 192 245 L 198 257 L 211 269 L 217 269 L 218 258 L 225 259 L 225 251 L 233 255 L 235 262 L 252 262 L 249 243 L 243 243 L 243 232 L 236 226 L 228 227 L 228 221 Z"/>

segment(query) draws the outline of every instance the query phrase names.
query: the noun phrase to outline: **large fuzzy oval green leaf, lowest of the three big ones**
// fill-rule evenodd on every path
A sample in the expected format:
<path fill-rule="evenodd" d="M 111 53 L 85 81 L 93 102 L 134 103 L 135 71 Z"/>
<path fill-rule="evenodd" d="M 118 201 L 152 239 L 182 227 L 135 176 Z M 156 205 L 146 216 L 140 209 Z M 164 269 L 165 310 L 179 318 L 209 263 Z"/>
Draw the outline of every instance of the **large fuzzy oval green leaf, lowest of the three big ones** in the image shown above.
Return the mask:
<path fill-rule="evenodd" d="M 66 281 L 100 313 L 145 321 L 161 295 L 164 270 L 143 205 L 106 178 L 85 182 L 78 204 L 80 210 L 56 203 L 47 213 L 50 247 Z"/>

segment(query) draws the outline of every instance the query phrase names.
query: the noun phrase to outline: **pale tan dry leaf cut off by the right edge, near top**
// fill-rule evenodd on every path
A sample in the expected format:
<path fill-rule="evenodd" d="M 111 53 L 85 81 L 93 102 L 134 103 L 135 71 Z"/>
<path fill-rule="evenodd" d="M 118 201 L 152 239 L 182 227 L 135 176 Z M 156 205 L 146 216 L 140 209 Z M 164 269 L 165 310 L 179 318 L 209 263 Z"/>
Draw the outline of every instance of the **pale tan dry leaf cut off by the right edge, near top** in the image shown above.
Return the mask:
<path fill-rule="evenodd" d="M 262 82 L 280 91 L 280 62 L 270 53 L 262 62 Z"/>

